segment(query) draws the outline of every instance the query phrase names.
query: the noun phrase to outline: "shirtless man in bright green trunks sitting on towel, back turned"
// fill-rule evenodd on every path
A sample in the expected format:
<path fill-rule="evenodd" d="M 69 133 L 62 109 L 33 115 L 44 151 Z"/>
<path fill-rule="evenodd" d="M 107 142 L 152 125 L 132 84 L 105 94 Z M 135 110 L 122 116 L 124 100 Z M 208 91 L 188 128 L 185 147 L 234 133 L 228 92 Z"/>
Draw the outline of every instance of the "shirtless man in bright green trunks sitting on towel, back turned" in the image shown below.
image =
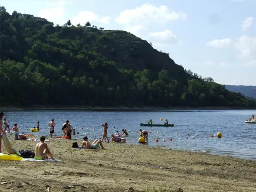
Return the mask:
<path fill-rule="evenodd" d="M 40 138 L 40 142 L 36 144 L 36 153 L 35 153 L 35 159 L 36 160 L 44 160 L 44 159 L 54 159 L 53 154 L 48 149 L 48 146 L 46 143 L 44 143 L 45 137 L 42 136 Z"/>

